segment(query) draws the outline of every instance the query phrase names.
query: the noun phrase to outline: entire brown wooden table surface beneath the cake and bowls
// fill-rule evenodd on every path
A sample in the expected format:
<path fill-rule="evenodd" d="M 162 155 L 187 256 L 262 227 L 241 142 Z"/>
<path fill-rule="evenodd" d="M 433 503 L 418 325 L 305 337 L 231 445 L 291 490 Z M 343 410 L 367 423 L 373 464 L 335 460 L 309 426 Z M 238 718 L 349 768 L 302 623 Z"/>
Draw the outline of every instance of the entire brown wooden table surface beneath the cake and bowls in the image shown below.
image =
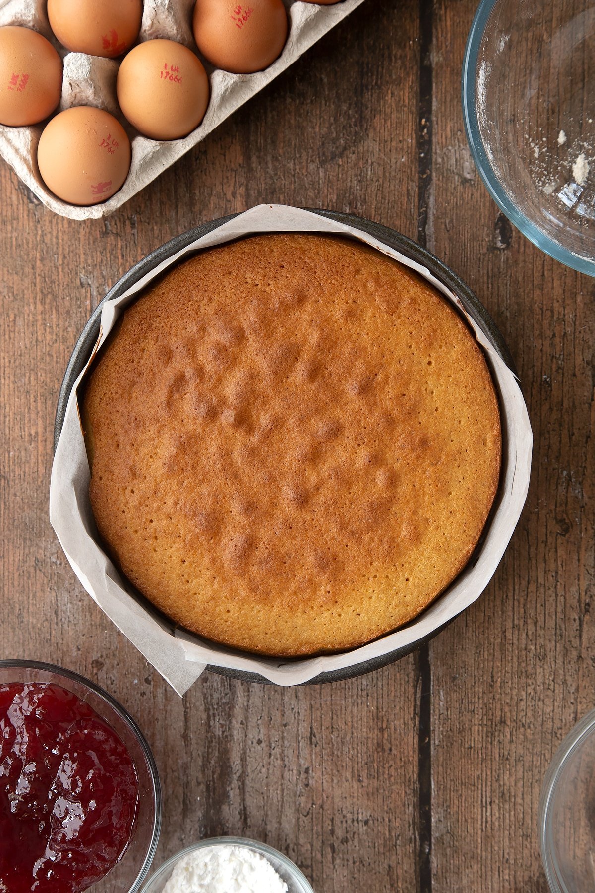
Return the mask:
<path fill-rule="evenodd" d="M 105 221 L 64 220 L 0 164 L 4 657 L 96 680 L 161 772 L 157 863 L 267 841 L 317 893 L 547 889 L 541 780 L 593 706 L 595 287 L 512 229 L 475 172 L 460 67 L 477 0 L 368 0 Z M 80 587 L 47 517 L 62 372 L 93 307 L 170 237 L 262 201 L 426 244 L 514 356 L 535 438 L 525 512 L 483 596 L 400 663 L 300 689 L 205 673 L 173 693 Z"/>

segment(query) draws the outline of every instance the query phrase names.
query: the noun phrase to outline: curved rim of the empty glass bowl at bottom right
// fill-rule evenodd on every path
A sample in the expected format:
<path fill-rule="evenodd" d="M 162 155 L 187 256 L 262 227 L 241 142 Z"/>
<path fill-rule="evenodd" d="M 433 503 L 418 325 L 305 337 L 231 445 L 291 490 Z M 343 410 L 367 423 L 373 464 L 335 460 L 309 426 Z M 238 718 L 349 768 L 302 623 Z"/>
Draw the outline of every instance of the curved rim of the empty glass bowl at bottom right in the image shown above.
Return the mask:
<path fill-rule="evenodd" d="M 579 720 L 568 732 L 566 738 L 554 754 L 541 787 L 538 809 L 539 848 L 543 870 L 552 893 L 569 893 L 569 891 L 564 884 L 564 880 L 562 880 L 558 861 L 554 853 L 551 806 L 567 761 L 593 732 L 595 732 L 595 709 L 583 716 L 583 719 Z"/>

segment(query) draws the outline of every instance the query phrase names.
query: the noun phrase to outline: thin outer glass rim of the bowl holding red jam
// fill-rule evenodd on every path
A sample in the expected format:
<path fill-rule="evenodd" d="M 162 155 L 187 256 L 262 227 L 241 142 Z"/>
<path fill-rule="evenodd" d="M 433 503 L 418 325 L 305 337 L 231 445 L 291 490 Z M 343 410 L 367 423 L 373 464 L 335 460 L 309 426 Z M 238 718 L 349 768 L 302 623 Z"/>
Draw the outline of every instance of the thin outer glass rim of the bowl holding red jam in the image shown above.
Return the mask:
<path fill-rule="evenodd" d="M 141 750 L 143 751 L 143 754 L 145 755 L 147 766 L 149 767 L 149 774 L 151 775 L 151 780 L 153 782 L 153 802 L 155 807 L 151 843 L 145 855 L 145 860 L 141 865 L 140 871 L 136 875 L 136 880 L 132 887 L 128 890 L 128 893 L 138 893 L 149 872 L 149 869 L 151 868 L 151 864 L 153 863 L 153 858 L 157 850 L 157 844 L 159 843 L 159 838 L 161 835 L 162 813 L 161 781 L 159 780 L 159 772 L 157 770 L 155 758 L 153 757 L 153 753 L 145 739 L 145 736 L 143 735 L 143 732 L 138 728 L 135 720 L 133 720 L 130 714 L 128 714 L 128 711 L 120 704 L 119 701 L 115 699 L 115 697 L 112 697 L 112 695 L 110 695 L 107 691 L 96 685 L 95 682 L 87 679 L 85 676 L 81 676 L 78 672 L 66 670 L 64 667 L 59 667 L 55 663 L 10 659 L 0 660 L 0 670 L 10 670 L 12 668 L 22 670 L 41 670 L 42 672 L 53 673 L 54 676 L 62 677 L 62 679 L 78 682 L 79 685 L 82 685 L 85 688 L 89 689 L 95 695 L 101 697 L 103 701 L 105 701 L 108 705 L 110 705 L 112 709 L 117 714 L 119 714 L 120 719 L 126 725 L 128 725 L 133 736 L 136 738 L 139 746 L 141 747 Z"/>

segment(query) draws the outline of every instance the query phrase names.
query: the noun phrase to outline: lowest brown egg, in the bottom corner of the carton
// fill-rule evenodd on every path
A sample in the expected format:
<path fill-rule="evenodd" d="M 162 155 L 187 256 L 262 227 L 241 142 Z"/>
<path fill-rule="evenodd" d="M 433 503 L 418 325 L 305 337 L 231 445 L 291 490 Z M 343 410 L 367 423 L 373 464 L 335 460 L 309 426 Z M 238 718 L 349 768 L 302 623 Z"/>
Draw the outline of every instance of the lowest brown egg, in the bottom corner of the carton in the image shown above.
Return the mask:
<path fill-rule="evenodd" d="M 45 186 L 70 204 L 99 204 L 118 192 L 130 169 L 126 130 L 109 112 L 78 105 L 45 127 L 37 164 Z"/>

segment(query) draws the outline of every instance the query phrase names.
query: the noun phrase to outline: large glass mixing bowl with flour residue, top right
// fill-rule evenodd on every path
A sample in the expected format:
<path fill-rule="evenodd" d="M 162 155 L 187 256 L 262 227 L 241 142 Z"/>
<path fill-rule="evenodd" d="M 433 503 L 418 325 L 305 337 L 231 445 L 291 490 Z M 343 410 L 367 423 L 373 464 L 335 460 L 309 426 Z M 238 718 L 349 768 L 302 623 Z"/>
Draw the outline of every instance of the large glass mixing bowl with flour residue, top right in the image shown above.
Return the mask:
<path fill-rule="evenodd" d="M 492 198 L 535 245 L 595 276 L 595 0 L 483 0 L 463 113 Z"/>

